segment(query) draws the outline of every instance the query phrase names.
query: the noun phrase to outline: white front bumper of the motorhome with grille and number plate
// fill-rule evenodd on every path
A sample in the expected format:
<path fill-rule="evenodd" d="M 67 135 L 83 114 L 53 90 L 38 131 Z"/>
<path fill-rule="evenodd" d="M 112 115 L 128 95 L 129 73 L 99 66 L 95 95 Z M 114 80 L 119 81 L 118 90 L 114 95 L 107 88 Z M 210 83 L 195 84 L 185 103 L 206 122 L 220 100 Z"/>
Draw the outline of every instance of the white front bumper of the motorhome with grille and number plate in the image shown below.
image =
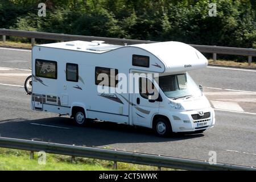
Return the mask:
<path fill-rule="evenodd" d="M 203 111 L 204 115 L 195 117 L 195 114 L 199 114 L 200 111 Z M 209 117 L 207 113 L 209 113 Z M 205 130 L 213 127 L 215 124 L 215 113 L 212 108 L 193 111 L 171 112 L 170 118 L 172 131 L 175 133 Z"/>

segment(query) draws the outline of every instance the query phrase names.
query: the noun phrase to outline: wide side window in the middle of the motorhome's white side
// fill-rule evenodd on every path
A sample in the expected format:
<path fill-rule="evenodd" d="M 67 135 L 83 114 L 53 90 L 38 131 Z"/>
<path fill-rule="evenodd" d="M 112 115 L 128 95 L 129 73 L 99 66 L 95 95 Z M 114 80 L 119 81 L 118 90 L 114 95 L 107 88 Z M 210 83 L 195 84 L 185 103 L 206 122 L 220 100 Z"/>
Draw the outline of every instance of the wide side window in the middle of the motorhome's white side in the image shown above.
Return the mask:
<path fill-rule="evenodd" d="M 96 85 L 102 85 L 102 81 L 104 80 L 104 78 L 101 78 L 101 76 L 99 77 L 100 74 L 102 74 L 102 76 L 104 76 L 103 74 L 108 76 L 108 85 L 104 85 L 104 86 L 110 86 L 110 87 L 118 86 L 118 78 L 115 79 L 118 75 L 118 69 L 95 67 L 95 84 Z"/>

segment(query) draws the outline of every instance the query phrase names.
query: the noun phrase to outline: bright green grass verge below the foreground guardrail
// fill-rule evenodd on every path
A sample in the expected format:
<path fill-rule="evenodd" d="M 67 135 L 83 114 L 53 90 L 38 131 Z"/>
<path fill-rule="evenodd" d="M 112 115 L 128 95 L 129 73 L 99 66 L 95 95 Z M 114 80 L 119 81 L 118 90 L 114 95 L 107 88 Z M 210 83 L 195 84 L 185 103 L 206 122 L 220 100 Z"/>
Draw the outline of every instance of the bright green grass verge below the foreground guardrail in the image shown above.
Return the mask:
<path fill-rule="evenodd" d="M 30 160 L 30 152 L 0 148 L 0 171 L 102 171 L 113 170 L 114 162 L 107 160 L 75 158 L 71 163 L 71 156 L 46 154 L 46 164 L 38 163 L 38 152 Z M 137 164 L 117 163 L 118 170 L 155 171 L 157 167 Z M 162 168 L 162 170 L 172 170 Z"/>

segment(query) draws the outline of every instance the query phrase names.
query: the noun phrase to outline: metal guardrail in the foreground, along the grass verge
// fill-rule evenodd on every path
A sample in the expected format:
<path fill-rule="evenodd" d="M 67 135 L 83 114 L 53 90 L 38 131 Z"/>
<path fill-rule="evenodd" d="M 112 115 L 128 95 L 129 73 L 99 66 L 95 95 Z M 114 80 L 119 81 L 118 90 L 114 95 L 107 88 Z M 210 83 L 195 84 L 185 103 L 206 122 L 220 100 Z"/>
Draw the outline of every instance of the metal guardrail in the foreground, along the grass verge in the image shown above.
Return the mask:
<path fill-rule="evenodd" d="M 172 158 L 169 156 L 141 154 L 135 152 L 109 150 L 95 147 L 72 146 L 59 143 L 38 142 L 0 137 L 0 147 L 27 151 L 44 151 L 52 154 L 78 156 L 114 162 L 143 164 L 147 166 L 166 167 L 184 170 L 253 170 L 256 168 L 231 164 L 209 164 L 200 160 Z"/>

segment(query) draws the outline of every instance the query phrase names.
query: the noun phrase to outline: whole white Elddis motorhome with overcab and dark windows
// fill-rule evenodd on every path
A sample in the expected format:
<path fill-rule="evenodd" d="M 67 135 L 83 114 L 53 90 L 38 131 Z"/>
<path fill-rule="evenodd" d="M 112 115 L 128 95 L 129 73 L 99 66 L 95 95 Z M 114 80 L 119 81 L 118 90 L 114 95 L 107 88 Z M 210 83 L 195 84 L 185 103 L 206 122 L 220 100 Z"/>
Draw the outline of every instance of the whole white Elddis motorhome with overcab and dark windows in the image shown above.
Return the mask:
<path fill-rule="evenodd" d="M 213 127 L 214 111 L 187 72 L 207 64 L 199 51 L 180 42 L 117 46 L 74 41 L 34 46 L 31 108 L 69 115 L 81 126 L 100 119 L 148 127 L 160 136 L 201 133 Z M 108 84 L 100 84 L 101 73 L 109 76 Z M 129 79 L 137 74 L 133 84 L 123 86 L 139 91 L 117 93 L 120 73 Z M 157 88 L 157 98 L 142 93 L 145 80 Z M 100 93 L 99 86 L 114 92 Z"/>

